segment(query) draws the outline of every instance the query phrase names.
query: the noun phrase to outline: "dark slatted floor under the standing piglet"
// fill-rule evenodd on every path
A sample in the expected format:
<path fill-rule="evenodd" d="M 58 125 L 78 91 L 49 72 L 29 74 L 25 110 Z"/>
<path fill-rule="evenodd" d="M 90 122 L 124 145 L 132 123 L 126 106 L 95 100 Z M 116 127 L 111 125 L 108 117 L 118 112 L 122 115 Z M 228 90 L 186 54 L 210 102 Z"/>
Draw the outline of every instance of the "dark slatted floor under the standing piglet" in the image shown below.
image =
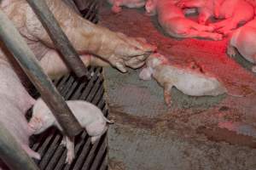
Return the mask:
<path fill-rule="evenodd" d="M 82 99 L 97 105 L 105 116 L 108 110 L 103 99 L 102 68 L 89 67 L 93 77 L 90 81 L 79 81 L 69 75 L 54 81 L 55 86 L 65 99 Z M 32 149 L 42 156 L 38 163 L 41 170 L 106 170 L 108 169 L 108 147 L 106 133 L 95 144 L 90 144 L 90 137 L 80 133 L 75 142 L 75 159 L 69 166 L 65 164 L 66 148 L 61 144 L 62 135 L 56 128 L 32 137 Z"/>

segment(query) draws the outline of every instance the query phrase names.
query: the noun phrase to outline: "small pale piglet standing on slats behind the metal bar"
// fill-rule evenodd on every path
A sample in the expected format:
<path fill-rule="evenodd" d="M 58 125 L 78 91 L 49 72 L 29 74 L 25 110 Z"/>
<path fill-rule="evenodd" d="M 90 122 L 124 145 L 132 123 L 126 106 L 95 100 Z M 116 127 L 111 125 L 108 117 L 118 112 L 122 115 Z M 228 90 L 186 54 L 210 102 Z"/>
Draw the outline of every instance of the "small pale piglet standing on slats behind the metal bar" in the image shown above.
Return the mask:
<path fill-rule="evenodd" d="M 69 100 L 67 101 L 67 105 L 71 111 L 73 111 L 74 116 L 78 119 L 81 126 L 84 127 L 86 132 L 91 136 L 92 144 L 94 144 L 97 139 L 100 139 L 102 134 L 107 131 L 107 122 L 113 123 L 103 116 L 100 109 L 86 101 Z M 55 116 L 49 111 L 48 106 L 42 99 L 38 99 L 33 106 L 32 118 L 28 124 L 34 134 L 42 133 L 51 126 L 58 127 L 62 131 L 61 126 L 55 120 Z M 62 144 L 66 144 L 66 162 L 70 164 L 74 158 L 74 139 L 69 139 L 67 136 L 65 139 L 66 141 L 62 141 Z"/>

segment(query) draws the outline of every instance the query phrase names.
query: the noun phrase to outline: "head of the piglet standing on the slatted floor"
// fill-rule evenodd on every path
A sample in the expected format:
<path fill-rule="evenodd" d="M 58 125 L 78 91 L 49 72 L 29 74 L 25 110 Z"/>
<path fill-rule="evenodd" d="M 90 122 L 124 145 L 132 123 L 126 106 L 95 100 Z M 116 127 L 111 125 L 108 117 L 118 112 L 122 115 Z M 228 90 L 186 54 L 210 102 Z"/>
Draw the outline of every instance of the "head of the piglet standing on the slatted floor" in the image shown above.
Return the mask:
<path fill-rule="evenodd" d="M 32 118 L 28 122 L 33 134 L 44 132 L 48 127 L 55 123 L 55 117 L 52 115 L 43 99 L 38 99 L 32 108 Z"/>

